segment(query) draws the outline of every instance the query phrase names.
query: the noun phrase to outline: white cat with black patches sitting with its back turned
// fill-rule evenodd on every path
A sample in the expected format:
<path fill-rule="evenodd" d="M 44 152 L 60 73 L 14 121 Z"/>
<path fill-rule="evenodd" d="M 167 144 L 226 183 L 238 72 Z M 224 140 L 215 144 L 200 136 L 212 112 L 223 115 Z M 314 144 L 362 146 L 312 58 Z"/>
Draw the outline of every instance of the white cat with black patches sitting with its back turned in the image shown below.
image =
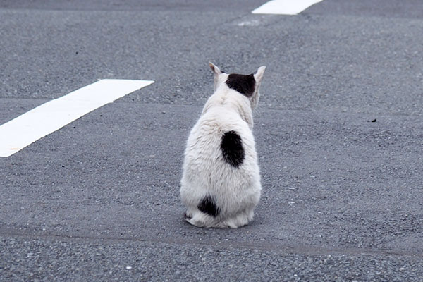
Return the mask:
<path fill-rule="evenodd" d="M 180 197 L 188 223 L 238 228 L 250 223 L 262 186 L 252 135 L 265 66 L 250 75 L 228 74 L 209 62 L 214 94 L 188 137 Z"/>

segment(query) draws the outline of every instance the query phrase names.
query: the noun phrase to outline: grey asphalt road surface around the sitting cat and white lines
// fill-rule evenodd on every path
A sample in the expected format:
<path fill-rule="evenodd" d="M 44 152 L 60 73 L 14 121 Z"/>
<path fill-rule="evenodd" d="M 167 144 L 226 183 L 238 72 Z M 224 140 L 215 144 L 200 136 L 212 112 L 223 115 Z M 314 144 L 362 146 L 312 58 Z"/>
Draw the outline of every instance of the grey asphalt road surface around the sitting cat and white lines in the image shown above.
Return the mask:
<path fill-rule="evenodd" d="M 0 158 L 0 281 L 423 281 L 421 1 L 227 2 L 1 1 L 0 124 L 155 82 Z M 262 200 L 236 230 L 188 225 L 179 199 L 208 61 L 266 65 Z"/>

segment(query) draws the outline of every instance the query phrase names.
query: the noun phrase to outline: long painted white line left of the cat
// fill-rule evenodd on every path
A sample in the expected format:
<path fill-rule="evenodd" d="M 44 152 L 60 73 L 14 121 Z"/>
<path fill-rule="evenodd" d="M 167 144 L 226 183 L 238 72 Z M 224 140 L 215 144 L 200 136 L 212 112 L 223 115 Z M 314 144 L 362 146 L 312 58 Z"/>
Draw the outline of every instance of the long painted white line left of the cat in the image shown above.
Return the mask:
<path fill-rule="evenodd" d="M 152 84 L 152 80 L 99 80 L 0 125 L 0 157 L 9 157 L 100 106 Z"/>

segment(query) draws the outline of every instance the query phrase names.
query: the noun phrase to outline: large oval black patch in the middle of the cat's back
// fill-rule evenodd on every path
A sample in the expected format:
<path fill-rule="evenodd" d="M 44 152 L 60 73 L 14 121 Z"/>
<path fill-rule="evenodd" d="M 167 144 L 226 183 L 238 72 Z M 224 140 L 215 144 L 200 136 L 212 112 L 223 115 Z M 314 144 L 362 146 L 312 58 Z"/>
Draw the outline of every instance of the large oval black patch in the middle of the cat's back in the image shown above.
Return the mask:
<path fill-rule="evenodd" d="M 245 152 L 243 140 L 234 130 L 224 133 L 221 141 L 223 159 L 231 166 L 238 168 L 243 164 Z"/>

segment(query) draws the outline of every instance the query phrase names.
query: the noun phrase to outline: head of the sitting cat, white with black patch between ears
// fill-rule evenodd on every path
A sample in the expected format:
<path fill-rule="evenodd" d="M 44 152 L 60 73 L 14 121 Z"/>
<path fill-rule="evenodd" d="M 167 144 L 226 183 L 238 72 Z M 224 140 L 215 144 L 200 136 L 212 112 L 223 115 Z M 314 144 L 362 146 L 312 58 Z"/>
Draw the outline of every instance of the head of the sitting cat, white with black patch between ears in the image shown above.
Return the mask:
<path fill-rule="evenodd" d="M 259 87 L 266 66 L 259 67 L 255 73 L 251 73 L 250 75 L 240 75 L 238 73 L 228 74 L 221 71 L 211 62 L 209 62 L 209 66 L 214 73 L 214 91 L 219 87 L 229 87 L 250 99 L 251 108 L 255 109 L 259 103 Z"/>

